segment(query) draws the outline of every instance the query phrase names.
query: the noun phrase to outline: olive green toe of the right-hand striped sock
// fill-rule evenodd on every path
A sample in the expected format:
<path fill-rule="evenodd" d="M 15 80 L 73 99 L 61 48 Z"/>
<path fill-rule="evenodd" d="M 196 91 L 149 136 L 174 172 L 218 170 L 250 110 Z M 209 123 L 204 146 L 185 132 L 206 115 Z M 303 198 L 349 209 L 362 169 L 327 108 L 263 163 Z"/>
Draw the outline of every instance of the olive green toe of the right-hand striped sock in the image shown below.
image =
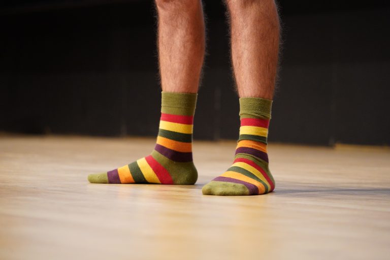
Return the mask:
<path fill-rule="evenodd" d="M 216 196 L 247 196 L 249 190 L 245 185 L 239 183 L 211 181 L 203 186 L 202 193 Z"/>

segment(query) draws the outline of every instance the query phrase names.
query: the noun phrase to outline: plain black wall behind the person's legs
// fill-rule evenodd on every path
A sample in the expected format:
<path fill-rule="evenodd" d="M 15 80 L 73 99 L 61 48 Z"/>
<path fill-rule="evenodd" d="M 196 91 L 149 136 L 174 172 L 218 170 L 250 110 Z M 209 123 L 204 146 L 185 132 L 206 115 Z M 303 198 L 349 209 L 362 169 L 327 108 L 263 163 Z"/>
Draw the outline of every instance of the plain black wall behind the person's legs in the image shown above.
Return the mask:
<path fill-rule="evenodd" d="M 279 1 L 283 49 L 270 141 L 390 144 L 390 5 Z M 236 139 L 221 1 L 204 1 L 208 55 L 195 139 Z M 0 131 L 155 136 L 152 1 L 0 4 Z"/>

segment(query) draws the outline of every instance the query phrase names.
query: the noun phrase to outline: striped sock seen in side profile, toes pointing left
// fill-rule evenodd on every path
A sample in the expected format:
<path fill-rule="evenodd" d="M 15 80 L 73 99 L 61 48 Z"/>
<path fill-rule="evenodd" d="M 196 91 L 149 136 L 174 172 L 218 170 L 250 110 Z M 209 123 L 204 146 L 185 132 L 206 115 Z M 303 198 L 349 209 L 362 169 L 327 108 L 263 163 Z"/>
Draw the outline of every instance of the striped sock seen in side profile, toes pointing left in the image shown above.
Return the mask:
<path fill-rule="evenodd" d="M 197 94 L 161 93 L 161 118 L 152 153 L 115 170 L 90 174 L 91 183 L 194 184 L 192 122 Z"/>

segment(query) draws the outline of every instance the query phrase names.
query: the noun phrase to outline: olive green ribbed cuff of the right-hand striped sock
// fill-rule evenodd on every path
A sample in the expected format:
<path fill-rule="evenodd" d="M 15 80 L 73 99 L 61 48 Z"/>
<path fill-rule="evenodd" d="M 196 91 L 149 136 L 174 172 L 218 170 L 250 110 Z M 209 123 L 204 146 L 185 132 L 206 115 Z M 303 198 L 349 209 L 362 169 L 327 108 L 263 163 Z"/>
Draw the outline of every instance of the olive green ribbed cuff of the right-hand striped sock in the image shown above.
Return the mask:
<path fill-rule="evenodd" d="M 240 98 L 240 118 L 271 118 L 272 100 L 263 98 Z"/>

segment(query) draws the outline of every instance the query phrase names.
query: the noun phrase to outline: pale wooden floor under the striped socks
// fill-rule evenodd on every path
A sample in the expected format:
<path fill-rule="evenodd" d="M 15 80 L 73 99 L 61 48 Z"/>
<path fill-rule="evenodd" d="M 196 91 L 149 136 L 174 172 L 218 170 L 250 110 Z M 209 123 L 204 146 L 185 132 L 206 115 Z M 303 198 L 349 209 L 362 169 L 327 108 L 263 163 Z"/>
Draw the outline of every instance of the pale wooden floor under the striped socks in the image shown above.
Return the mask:
<path fill-rule="evenodd" d="M 87 182 L 153 143 L 0 137 L 0 259 L 389 259 L 389 149 L 271 144 L 264 196 L 202 195 L 235 142 L 195 142 L 196 185 Z"/>

